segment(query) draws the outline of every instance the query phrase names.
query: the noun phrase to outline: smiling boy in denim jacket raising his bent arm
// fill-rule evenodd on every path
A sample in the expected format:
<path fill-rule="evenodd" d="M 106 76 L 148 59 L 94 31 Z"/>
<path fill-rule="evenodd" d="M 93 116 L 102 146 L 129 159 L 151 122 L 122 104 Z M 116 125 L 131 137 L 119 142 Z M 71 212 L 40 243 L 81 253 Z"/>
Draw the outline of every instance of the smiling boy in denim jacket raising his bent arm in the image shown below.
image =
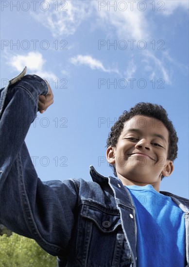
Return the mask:
<path fill-rule="evenodd" d="M 189 266 L 189 201 L 159 192 L 177 156 L 166 111 L 138 103 L 112 127 L 106 156 L 118 178 L 91 166 L 93 182 L 42 183 L 24 138 L 53 97 L 25 71 L 0 91 L 0 223 L 58 256 L 59 267 Z"/>

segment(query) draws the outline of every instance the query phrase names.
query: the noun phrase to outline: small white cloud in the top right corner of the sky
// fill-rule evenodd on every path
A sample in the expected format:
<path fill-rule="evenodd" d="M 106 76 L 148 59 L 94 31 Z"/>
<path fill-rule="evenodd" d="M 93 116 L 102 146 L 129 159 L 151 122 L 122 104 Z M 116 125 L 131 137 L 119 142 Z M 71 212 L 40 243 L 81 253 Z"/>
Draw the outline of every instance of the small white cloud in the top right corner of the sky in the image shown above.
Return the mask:
<path fill-rule="evenodd" d="M 187 11 L 189 10 L 188 0 L 167 0 L 164 3 L 165 5 L 162 7 L 164 11 L 161 12 L 162 15 L 171 15 L 179 7 Z"/>

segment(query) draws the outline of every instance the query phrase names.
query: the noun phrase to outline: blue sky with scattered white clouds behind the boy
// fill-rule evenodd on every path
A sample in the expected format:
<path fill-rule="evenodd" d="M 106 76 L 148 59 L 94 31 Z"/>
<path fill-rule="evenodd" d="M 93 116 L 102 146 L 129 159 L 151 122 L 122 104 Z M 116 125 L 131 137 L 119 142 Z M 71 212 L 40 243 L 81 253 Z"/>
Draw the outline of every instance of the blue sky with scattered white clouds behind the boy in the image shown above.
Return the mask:
<path fill-rule="evenodd" d="M 53 105 L 26 143 L 41 180 L 113 175 L 113 122 L 140 101 L 161 104 L 179 137 L 160 190 L 189 198 L 189 2 L 1 1 L 1 87 L 28 67 L 49 80 Z"/>

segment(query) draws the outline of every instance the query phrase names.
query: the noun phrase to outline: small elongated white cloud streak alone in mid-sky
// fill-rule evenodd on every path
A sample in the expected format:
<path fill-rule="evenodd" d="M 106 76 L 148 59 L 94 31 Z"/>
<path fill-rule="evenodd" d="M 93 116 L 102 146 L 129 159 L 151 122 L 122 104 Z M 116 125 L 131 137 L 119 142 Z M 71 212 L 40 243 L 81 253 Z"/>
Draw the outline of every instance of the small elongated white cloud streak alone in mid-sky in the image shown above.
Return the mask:
<path fill-rule="evenodd" d="M 116 72 L 119 73 L 117 69 L 107 69 L 103 66 L 100 60 L 92 58 L 91 56 L 77 55 L 76 57 L 70 58 L 70 62 L 74 65 L 86 65 L 91 69 L 99 69 L 104 72 Z"/>

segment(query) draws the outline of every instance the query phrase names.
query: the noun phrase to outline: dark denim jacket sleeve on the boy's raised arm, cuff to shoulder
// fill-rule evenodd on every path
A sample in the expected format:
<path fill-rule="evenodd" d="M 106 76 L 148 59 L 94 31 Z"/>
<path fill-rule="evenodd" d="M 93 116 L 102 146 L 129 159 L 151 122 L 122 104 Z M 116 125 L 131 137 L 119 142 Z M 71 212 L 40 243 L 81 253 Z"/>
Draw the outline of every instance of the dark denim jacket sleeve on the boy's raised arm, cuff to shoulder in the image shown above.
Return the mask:
<path fill-rule="evenodd" d="M 36 75 L 0 90 L 0 223 L 55 256 L 69 244 L 78 194 L 71 180 L 42 183 L 24 142 L 47 90 Z"/>

